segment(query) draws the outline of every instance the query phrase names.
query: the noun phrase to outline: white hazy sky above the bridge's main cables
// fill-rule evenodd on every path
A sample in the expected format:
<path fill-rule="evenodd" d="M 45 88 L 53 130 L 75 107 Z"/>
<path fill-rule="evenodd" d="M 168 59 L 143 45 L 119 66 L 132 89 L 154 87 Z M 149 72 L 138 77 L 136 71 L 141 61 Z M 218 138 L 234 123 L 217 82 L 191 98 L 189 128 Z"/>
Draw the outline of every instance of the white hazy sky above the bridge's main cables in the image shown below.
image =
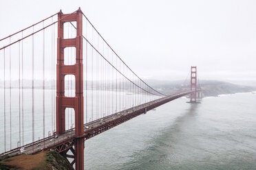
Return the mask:
<path fill-rule="evenodd" d="M 255 0 L 0 0 L 0 37 L 79 6 L 140 77 L 256 80 Z"/>

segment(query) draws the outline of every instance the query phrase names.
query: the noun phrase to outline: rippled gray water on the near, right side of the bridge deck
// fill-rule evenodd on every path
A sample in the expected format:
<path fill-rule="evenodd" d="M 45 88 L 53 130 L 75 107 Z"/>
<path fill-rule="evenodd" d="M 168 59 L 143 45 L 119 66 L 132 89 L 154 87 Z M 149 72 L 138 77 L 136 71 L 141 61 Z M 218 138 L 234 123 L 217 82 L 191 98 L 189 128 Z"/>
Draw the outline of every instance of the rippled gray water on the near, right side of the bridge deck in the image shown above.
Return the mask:
<path fill-rule="evenodd" d="M 256 169 L 256 95 L 187 100 L 85 141 L 85 169 Z"/>

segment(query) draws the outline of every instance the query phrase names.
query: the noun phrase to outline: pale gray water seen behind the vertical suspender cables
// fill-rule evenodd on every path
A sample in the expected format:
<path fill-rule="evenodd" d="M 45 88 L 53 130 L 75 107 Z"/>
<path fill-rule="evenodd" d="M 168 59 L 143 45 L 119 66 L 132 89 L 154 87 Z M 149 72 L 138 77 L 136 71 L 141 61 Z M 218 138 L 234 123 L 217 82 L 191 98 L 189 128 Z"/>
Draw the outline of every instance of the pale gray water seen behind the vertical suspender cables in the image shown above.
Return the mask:
<path fill-rule="evenodd" d="M 73 91 L 74 92 L 74 91 Z M 32 138 L 32 89 L 23 90 L 24 97 L 18 88 L 6 89 L 6 100 L 4 100 L 4 89 L 0 88 L 0 154 L 21 145 L 33 142 Z M 151 96 L 134 93 L 115 91 L 86 90 L 84 95 L 84 123 L 106 117 L 109 114 L 120 112 L 151 99 L 158 99 L 159 96 Z M 56 131 L 56 91 L 45 90 L 45 137 Z M 21 99 L 19 98 L 21 97 Z M 116 98 L 117 97 L 117 98 Z M 135 99 L 136 98 L 136 99 Z M 5 102 L 6 101 L 6 102 Z M 87 101 L 87 102 L 86 102 Z M 19 104 L 20 103 L 20 104 Z M 22 106 L 23 103 L 23 106 Z M 6 110 L 4 109 L 6 106 Z M 10 109 L 11 108 L 11 109 Z M 23 108 L 23 109 L 22 109 Z M 22 111 L 23 110 L 23 111 Z M 6 115 L 5 115 L 6 114 Z M 23 115 L 23 118 L 22 118 Z M 22 119 L 24 121 L 22 121 Z M 6 122 L 6 126 L 5 126 Z M 6 127 L 6 130 L 4 130 Z M 65 110 L 65 129 L 74 127 L 74 109 Z M 5 140 L 6 132 L 6 140 Z M 21 136 L 19 135 L 21 132 Z M 10 135 L 11 134 L 11 135 Z M 34 89 L 34 141 L 43 136 L 43 90 Z M 6 148 L 5 148 L 6 146 Z"/>

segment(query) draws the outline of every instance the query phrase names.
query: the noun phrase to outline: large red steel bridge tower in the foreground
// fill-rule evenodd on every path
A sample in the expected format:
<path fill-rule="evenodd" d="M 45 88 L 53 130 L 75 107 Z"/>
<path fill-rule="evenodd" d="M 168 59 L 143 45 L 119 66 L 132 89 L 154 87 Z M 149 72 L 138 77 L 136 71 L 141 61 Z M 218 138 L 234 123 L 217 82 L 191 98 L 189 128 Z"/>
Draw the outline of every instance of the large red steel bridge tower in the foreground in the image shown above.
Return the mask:
<path fill-rule="evenodd" d="M 76 38 L 64 39 L 64 23 L 76 21 Z M 76 64 L 64 64 L 65 47 L 76 47 Z M 75 162 L 76 169 L 84 169 L 83 140 L 83 12 L 79 8 L 73 14 L 58 12 L 57 40 L 57 83 L 56 83 L 56 134 L 65 133 L 65 109 L 75 111 Z M 76 96 L 65 97 L 65 75 L 74 75 L 76 79 Z"/>

